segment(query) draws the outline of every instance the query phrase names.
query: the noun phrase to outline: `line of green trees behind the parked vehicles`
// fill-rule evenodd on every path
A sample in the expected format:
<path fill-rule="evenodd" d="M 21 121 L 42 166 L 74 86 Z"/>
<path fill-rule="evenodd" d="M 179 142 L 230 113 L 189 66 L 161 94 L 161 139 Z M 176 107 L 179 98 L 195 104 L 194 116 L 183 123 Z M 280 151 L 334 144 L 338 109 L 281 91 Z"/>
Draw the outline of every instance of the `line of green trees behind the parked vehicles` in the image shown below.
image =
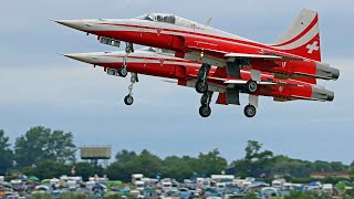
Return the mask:
<path fill-rule="evenodd" d="M 115 160 L 106 168 L 77 161 L 73 134 L 52 130 L 43 126 L 29 129 L 18 137 L 11 147 L 9 137 L 0 130 L 0 175 L 14 178 L 20 174 L 37 176 L 40 179 L 75 175 L 87 179 L 90 176 L 106 175 L 110 179 L 129 181 L 132 174 L 144 174 L 152 178 L 175 178 L 179 181 L 212 174 L 230 174 L 238 177 L 268 179 L 274 174 L 291 178 L 309 178 L 313 171 L 343 171 L 346 166 L 339 161 L 306 161 L 263 150 L 262 144 L 249 140 L 244 157 L 231 163 L 223 158 L 218 149 L 197 157 L 168 156 L 160 158 L 147 149 L 140 153 L 122 149 Z M 352 166 L 354 166 L 352 164 Z M 352 169 L 354 177 L 354 169 Z"/>

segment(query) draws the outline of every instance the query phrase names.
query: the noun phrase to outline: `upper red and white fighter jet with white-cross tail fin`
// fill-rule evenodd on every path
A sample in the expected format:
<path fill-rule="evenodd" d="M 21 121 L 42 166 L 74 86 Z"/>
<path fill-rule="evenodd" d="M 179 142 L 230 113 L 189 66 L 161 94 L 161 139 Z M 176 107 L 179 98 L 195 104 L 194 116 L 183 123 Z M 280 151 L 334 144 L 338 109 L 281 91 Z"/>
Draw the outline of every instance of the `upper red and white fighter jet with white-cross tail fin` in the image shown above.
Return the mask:
<path fill-rule="evenodd" d="M 249 104 L 257 106 L 262 72 L 282 80 L 337 80 L 340 71 L 321 62 L 319 14 L 303 10 L 274 44 L 262 44 L 173 14 L 150 13 L 135 19 L 60 20 L 58 23 L 98 35 L 101 43 L 118 45 L 126 42 L 126 56 L 134 52 L 133 43 L 174 51 L 176 57 L 201 63 L 195 88 L 210 91 L 211 65 L 230 80 L 241 80 L 241 70 L 250 71 L 242 86 L 226 90 L 228 104 L 239 105 L 238 94 L 249 93 Z M 126 66 L 118 69 L 123 75 Z M 244 87 L 244 90 L 243 90 Z M 325 96 L 332 97 L 333 93 Z M 232 100 L 231 100 L 232 98 Z"/>

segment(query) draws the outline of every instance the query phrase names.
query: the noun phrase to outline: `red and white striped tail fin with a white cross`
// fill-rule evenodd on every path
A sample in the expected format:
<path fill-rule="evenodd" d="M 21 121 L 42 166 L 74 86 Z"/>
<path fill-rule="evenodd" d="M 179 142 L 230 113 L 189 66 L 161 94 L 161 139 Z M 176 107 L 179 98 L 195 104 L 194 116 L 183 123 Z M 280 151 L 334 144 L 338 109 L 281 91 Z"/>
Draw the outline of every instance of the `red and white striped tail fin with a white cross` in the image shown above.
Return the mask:
<path fill-rule="evenodd" d="M 285 33 L 272 46 L 287 53 L 321 62 L 319 13 L 302 10 Z"/>

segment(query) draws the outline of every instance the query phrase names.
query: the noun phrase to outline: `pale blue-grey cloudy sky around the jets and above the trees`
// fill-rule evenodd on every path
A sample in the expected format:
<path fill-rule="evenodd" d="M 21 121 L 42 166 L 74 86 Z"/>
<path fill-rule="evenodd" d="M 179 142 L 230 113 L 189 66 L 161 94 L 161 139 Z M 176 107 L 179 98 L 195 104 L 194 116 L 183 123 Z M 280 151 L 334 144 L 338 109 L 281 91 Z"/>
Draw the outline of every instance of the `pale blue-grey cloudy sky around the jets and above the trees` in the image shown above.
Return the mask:
<path fill-rule="evenodd" d="M 13 142 L 31 126 L 74 134 L 77 146 L 112 145 L 115 150 L 147 148 L 160 156 L 192 155 L 219 148 L 241 158 L 256 139 L 275 154 L 309 160 L 354 160 L 352 0 L 3 0 L 0 7 L 0 128 Z M 95 36 L 58 25 L 53 19 L 133 18 L 170 12 L 263 43 L 273 42 L 301 9 L 320 12 L 323 61 L 341 69 L 333 103 L 274 103 L 262 97 L 253 119 L 243 106 L 212 105 L 200 118 L 192 88 L 140 77 L 135 104 L 127 107 L 128 80 L 58 53 L 112 51 Z M 242 97 L 243 105 L 247 103 Z"/>

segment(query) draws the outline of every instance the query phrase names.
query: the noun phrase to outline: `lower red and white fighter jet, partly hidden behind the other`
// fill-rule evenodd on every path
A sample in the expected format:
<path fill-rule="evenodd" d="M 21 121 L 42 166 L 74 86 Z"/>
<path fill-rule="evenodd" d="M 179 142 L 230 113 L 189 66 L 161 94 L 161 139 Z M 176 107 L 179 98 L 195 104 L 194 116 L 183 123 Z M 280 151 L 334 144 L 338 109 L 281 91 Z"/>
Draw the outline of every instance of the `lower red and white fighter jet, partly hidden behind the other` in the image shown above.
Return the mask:
<path fill-rule="evenodd" d="M 170 51 L 155 48 L 143 48 L 128 55 L 125 52 L 95 52 L 65 54 L 65 56 L 102 66 L 110 75 L 126 76 L 131 72 L 129 92 L 124 98 L 126 105 L 132 105 L 134 102 L 132 91 L 133 85 L 137 82 L 137 74 L 174 78 L 176 82 L 173 83 L 194 87 L 200 67 L 200 64 L 192 61 L 175 57 Z M 208 117 L 211 114 L 210 102 L 214 92 L 219 93 L 217 104 L 240 104 L 238 101 L 239 92 L 232 92 L 235 91 L 233 87 L 238 87 L 241 93 L 247 93 L 244 85 L 251 78 L 249 70 L 240 71 L 241 78 L 229 78 L 220 67 L 216 66 L 211 66 L 209 73 L 210 75 L 207 77 L 210 84 L 209 91 L 204 93 L 200 100 L 199 114 L 202 117 Z M 274 78 L 273 74 L 262 73 L 259 90 L 250 95 L 250 101 L 257 101 L 256 96 L 259 95 L 271 96 L 278 102 L 294 100 L 333 101 L 333 92 L 310 82 L 315 82 L 315 78 L 279 80 Z M 227 92 L 228 90 L 231 91 Z M 258 102 L 254 102 L 244 107 L 247 117 L 256 115 L 254 105 L 257 104 Z"/>

